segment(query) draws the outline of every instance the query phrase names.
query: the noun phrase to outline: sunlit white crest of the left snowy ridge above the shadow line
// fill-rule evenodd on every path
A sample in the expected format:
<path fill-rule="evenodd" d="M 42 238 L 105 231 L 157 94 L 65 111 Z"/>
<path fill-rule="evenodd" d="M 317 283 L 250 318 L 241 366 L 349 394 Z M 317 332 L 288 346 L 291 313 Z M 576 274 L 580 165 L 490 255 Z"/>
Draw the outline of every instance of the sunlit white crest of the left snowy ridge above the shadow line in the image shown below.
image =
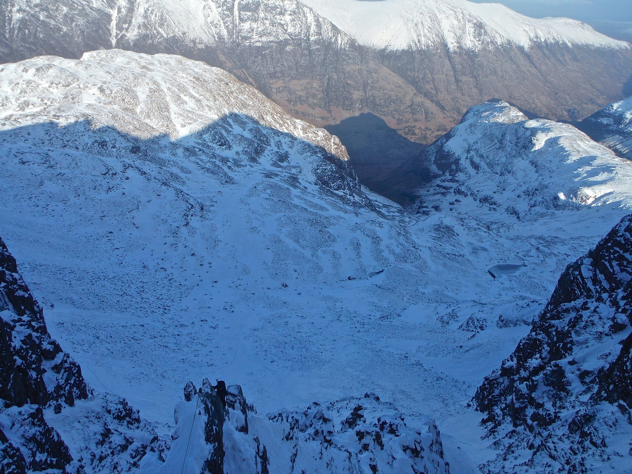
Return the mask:
<path fill-rule="evenodd" d="M 35 58 L 3 64 L 0 74 L 5 78 L 0 83 L 5 129 L 32 122 L 29 118 L 59 126 L 89 119 L 93 128 L 116 126 L 132 137 L 177 140 L 229 113 L 240 113 L 348 159 L 337 137 L 289 117 L 226 71 L 180 56 L 95 51 L 80 60 Z M 61 95 L 58 82 L 64 83 Z"/>

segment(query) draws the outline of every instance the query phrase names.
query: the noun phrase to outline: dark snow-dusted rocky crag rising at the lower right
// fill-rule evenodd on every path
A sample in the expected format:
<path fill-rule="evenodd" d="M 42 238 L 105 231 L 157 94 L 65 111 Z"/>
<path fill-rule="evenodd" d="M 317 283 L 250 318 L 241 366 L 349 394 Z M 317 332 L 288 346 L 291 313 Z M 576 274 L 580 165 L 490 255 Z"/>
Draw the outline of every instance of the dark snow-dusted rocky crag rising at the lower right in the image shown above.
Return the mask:
<path fill-rule="evenodd" d="M 568 265 L 475 407 L 501 454 L 490 472 L 577 473 L 629 466 L 632 216 Z"/>

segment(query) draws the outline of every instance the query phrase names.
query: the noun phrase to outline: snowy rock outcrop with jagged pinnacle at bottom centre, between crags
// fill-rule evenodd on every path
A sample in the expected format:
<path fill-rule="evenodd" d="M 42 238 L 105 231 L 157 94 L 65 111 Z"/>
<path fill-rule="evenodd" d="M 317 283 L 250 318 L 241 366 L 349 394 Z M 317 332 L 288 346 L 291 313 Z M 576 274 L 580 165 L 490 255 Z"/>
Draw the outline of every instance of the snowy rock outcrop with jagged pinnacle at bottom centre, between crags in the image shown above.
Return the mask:
<path fill-rule="evenodd" d="M 436 425 L 374 394 L 261 416 L 240 386 L 205 379 L 186 385 L 176 423 L 166 461 L 150 456 L 147 472 L 449 474 Z"/>

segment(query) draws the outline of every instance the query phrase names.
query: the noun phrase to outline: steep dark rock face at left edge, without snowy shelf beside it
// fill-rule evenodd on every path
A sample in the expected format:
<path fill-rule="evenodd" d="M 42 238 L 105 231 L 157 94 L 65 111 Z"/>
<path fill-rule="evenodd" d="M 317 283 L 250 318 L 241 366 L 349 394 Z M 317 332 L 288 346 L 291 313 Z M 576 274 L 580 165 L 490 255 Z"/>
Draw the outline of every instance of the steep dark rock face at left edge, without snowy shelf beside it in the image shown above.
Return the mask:
<path fill-rule="evenodd" d="M 88 387 L 81 368 L 51 339 L 42 308 L 1 239 L 0 317 L 0 463 L 10 466 L 9 472 L 63 470 L 70 452 L 42 408 L 73 406 L 88 397 Z"/>

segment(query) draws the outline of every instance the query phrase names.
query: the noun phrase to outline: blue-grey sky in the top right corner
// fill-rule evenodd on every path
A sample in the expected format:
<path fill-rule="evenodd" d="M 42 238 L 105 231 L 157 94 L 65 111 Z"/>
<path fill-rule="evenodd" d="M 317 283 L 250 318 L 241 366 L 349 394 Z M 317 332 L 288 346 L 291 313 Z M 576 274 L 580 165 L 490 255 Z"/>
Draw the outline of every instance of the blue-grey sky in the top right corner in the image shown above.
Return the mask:
<path fill-rule="evenodd" d="M 470 0 L 502 3 L 518 13 L 542 18 L 568 16 L 612 38 L 632 42 L 632 0 Z"/>

